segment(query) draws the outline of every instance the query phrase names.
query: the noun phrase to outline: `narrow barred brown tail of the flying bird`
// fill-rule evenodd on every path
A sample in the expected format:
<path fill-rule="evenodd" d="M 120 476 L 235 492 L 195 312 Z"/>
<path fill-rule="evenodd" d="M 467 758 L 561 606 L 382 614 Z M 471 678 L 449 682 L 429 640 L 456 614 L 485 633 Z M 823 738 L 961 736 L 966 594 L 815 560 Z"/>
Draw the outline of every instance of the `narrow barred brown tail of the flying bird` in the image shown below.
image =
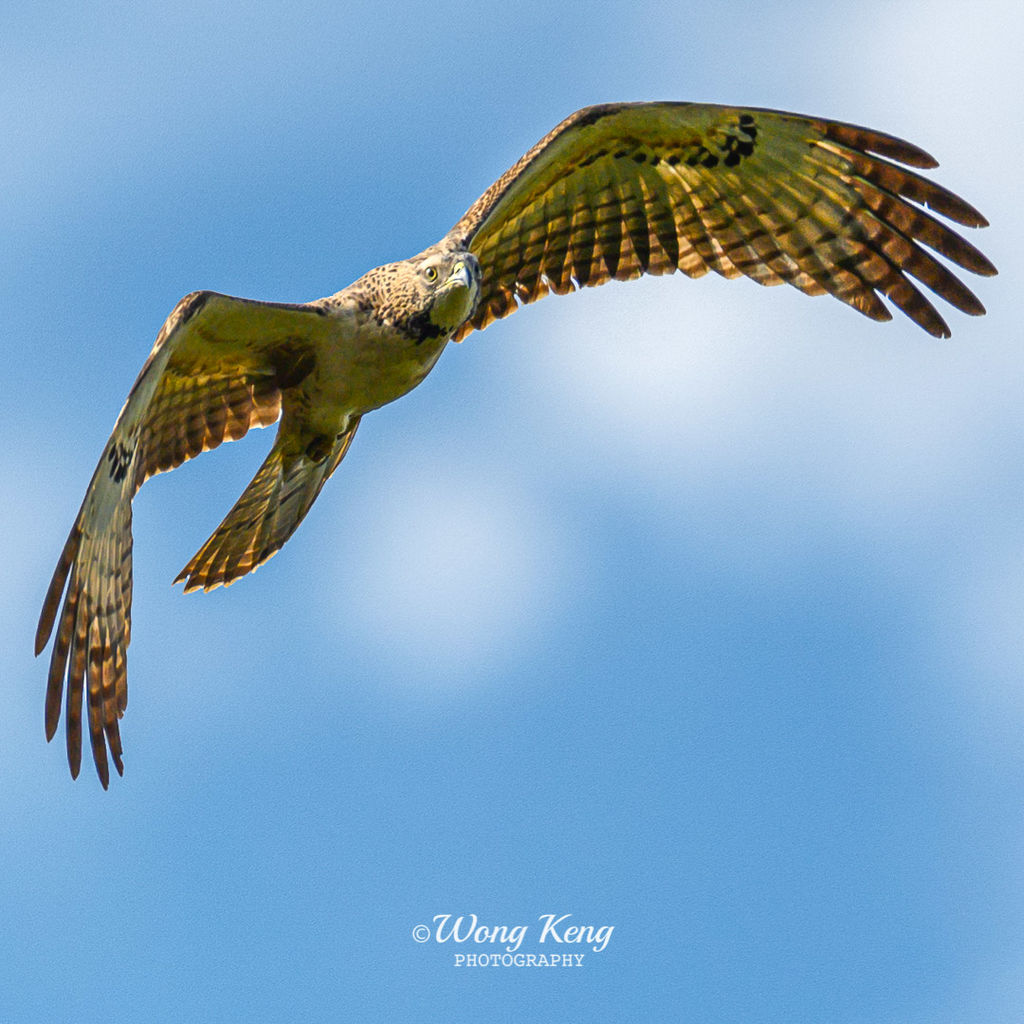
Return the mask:
<path fill-rule="evenodd" d="M 290 454 L 279 432 L 259 472 L 174 582 L 184 581 L 185 593 L 213 590 L 252 572 L 275 554 L 338 468 L 358 425 L 356 417 L 318 460 L 306 452 Z"/>

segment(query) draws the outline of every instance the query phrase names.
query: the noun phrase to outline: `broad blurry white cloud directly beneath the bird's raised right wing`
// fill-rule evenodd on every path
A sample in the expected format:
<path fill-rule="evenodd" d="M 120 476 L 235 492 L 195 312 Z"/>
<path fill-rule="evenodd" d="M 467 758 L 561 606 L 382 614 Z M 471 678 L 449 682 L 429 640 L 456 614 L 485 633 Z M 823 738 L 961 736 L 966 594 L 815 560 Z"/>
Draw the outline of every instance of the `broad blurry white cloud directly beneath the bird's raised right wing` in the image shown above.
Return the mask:
<path fill-rule="evenodd" d="M 938 344 L 824 299 L 680 279 L 609 286 L 520 325 L 541 335 L 526 386 L 590 472 L 653 499 L 767 480 L 854 519 L 934 502 L 1015 415 L 1009 389 L 992 390 L 999 352 L 958 340 L 984 322 L 955 327 Z M 1004 356 L 995 375 L 1010 380 L 1021 359 Z"/>

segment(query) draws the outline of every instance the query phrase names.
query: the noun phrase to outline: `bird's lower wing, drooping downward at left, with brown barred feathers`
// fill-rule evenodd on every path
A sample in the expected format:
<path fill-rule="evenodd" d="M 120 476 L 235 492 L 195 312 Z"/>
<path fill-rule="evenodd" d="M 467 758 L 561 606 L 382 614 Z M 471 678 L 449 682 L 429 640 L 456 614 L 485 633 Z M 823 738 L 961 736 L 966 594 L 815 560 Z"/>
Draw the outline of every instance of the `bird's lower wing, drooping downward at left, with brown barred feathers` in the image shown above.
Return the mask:
<path fill-rule="evenodd" d="M 132 498 L 155 473 L 236 440 L 250 427 L 273 423 L 281 415 L 282 393 L 312 368 L 325 322 L 325 310 L 316 303 L 287 305 L 195 292 L 175 306 L 161 329 L 103 449 L 36 632 L 38 654 L 56 626 L 46 737 L 56 731 L 67 683 L 73 776 L 81 767 L 86 691 L 92 754 L 104 788 L 108 745 L 123 771 L 118 719 L 128 699 Z M 241 571 L 259 563 L 251 552 L 247 558 Z M 221 580 L 232 578 L 225 571 Z"/>

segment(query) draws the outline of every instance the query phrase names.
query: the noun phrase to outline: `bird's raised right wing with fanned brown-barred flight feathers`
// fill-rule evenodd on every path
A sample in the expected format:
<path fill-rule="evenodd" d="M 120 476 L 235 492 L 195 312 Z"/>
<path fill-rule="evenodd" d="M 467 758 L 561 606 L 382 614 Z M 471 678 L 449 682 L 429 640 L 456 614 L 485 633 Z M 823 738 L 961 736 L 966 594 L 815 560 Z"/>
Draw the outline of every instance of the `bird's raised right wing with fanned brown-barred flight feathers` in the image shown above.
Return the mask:
<path fill-rule="evenodd" d="M 779 111 L 586 108 L 449 232 L 477 257 L 483 281 L 477 311 L 456 338 L 549 292 L 677 269 L 785 282 L 878 321 L 892 318 L 884 295 L 929 334 L 946 337 L 949 328 L 911 276 L 964 312 L 984 307 L 929 250 L 974 273 L 995 268 L 924 209 L 972 227 L 986 223 L 907 170 L 935 166 L 891 135 Z"/>

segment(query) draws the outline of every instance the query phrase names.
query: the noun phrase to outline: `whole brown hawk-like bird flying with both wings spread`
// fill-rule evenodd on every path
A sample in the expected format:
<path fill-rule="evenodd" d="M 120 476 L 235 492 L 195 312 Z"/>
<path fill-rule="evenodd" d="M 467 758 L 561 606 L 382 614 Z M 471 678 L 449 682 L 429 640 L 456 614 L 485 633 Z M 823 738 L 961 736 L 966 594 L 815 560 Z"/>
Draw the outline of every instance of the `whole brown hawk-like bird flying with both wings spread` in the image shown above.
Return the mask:
<path fill-rule="evenodd" d="M 435 245 L 335 295 L 296 305 L 186 295 L 128 393 L 43 602 L 37 654 L 56 627 L 47 739 L 67 691 L 77 777 L 87 693 L 103 787 L 108 748 L 124 771 L 131 509 L 150 476 L 280 419 L 265 462 L 175 581 L 209 590 L 251 572 L 292 536 L 362 416 L 416 387 L 449 341 L 549 292 L 714 270 L 827 293 L 876 321 L 892 318 L 884 296 L 947 337 L 910 279 L 979 315 L 982 304 L 934 254 L 973 273 L 995 268 L 926 211 L 986 223 L 908 170 L 935 166 L 891 135 L 779 111 L 589 106 L 541 139 Z"/>

